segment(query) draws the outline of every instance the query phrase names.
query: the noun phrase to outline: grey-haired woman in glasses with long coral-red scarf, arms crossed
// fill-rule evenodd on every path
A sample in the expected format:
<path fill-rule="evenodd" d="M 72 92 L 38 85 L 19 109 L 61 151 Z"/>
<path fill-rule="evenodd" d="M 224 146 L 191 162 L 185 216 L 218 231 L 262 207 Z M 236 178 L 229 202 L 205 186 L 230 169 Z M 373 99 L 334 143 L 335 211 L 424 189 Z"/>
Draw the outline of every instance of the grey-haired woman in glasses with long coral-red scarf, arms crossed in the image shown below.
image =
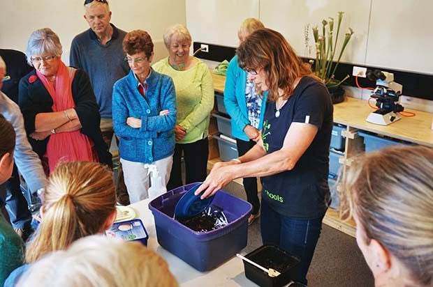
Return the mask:
<path fill-rule="evenodd" d="M 31 33 L 27 61 L 36 70 L 21 79 L 19 88 L 31 146 L 49 172 L 60 161 L 111 166 L 89 77 L 82 70 L 66 67 L 61 53 L 59 37 L 51 29 Z"/>

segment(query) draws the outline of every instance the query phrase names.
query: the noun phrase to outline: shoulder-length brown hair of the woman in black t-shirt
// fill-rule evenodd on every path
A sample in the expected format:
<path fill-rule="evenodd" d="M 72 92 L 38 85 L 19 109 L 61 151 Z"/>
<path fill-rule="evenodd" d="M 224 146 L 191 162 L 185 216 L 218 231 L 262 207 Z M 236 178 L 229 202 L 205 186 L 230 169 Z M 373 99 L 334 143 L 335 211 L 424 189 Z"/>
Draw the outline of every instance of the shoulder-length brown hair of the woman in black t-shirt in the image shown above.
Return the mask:
<path fill-rule="evenodd" d="M 308 63 L 303 63 L 295 50 L 281 33 L 272 29 L 258 29 L 251 33 L 236 52 L 240 68 L 248 70 L 264 69 L 269 87 L 268 99 L 275 102 L 279 98 L 278 89 L 284 91 L 284 100 L 293 93 L 296 79 L 314 76 Z"/>

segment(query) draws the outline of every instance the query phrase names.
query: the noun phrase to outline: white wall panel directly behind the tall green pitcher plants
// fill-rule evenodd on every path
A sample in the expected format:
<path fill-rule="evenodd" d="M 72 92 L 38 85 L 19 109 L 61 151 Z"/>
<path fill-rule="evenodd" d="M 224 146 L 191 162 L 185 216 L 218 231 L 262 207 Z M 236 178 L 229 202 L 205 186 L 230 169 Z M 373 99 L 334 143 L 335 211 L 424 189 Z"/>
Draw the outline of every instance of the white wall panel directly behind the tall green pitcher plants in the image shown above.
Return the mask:
<path fill-rule="evenodd" d="M 318 26 L 322 34 L 322 20 L 334 18 L 334 40 L 337 32 L 338 11 L 344 11 L 342 26 L 339 31 L 337 52 L 344 40 L 344 34 L 351 27 L 355 34 L 346 47 L 342 61 L 364 63 L 367 47 L 369 1 L 346 0 L 308 0 L 280 1 L 267 0 L 266 5 L 260 5 L 260 20 L 270 28 L 281 32 L 292 47 L 302 56 L 315 57 L 314 37 L 312 27 Z M 306 43 L 304 28 L 309 24 L 309 41 Z M 307 48 L 307 47 L 308 48 Z M 337 55 L 335 56 L 337 58 Z"/>

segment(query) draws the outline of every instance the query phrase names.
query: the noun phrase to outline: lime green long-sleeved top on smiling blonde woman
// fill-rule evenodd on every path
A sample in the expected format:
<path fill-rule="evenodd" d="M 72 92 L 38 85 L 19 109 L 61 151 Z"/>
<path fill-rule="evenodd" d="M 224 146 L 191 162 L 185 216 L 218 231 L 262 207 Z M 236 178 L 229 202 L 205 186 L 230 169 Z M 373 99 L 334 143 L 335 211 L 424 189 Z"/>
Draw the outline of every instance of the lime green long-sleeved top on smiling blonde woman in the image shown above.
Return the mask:
<path fill-rule="evenodd" d="M 185 137 L 177 143 L 193 143 L 207 137 L 210 112 L 214 108 L 214 84 L 207 65 L 195 58 L 192 68 L 178 71 L 168 58 L 152 65 L 156 72 L 173 79 L 176 90 L 177 125 L 185 128 Z"/>

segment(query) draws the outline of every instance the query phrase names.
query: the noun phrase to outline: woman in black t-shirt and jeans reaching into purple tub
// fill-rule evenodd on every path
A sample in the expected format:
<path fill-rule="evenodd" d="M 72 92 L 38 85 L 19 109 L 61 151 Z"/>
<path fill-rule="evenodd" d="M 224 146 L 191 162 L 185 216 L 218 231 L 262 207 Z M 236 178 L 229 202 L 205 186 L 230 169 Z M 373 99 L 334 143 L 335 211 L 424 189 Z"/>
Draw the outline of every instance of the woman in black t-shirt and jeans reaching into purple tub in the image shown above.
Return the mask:
<path fill-rule="evenodd" d="M 196 194 L 205 191 L 205 198 L 235 178 L 260 176 L 263 243 L 300 257 L 295 280 L 306 285 L 329 200 L 330 95 L 277 31 L 251 33 L 237 56 L 258 91 L 269 91 L 261 141 L 242 157 L 215 164 Z"/>

